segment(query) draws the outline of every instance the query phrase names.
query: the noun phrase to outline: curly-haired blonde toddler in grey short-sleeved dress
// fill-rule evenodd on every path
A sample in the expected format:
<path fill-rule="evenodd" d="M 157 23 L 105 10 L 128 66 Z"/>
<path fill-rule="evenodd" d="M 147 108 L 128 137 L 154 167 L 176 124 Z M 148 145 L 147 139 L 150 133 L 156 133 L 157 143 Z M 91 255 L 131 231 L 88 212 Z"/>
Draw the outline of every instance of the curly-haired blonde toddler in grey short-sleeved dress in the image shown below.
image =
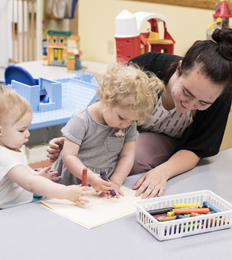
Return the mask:
<path fill-rule="evenodd" d="M 100 196 L 110 198 L 110 190 L 123 196 L 120 187 L 133 166 L 137 125 L 150 118 L 163 89 L 155 74 L 135 65 L 109 66 L 97 90 L 99 102 L 78 111 L 61 130 L 64 147 L 55 165 L 61 183 L 80 184 L 87 168 L 87 183 Z"/>

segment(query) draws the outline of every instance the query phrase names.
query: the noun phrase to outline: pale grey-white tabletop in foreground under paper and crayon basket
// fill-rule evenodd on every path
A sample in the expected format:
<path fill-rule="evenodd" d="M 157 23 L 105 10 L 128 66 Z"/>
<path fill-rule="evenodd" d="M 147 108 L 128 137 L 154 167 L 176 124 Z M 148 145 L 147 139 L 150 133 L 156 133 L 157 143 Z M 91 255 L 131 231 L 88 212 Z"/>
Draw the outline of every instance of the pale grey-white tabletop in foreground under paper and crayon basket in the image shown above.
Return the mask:
<path fill-rule="evenodd" d="M 128 177 L 124 185 L 131 188 L 138 178 Z M 232 203 L 231 185 L 229 149 L 170 179 L 164 196 L 211 190 Z M 0 231 L 0 259 L 4 260 L 232 259 L 231 228 L 159 242 L 137 223 L 135 214 L 88 230 L 39 202 L 0 210 Z"/>

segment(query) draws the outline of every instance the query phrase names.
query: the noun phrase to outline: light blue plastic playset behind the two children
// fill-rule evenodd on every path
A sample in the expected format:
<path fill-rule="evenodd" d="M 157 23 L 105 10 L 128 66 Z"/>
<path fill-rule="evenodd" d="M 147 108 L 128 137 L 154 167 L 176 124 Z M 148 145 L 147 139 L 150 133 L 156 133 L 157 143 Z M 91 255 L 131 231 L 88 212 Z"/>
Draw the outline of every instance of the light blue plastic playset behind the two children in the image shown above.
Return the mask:
<path fill-rule="evenodd" d="M 39 84 L 33 86 L 12 80 L 10 86 L 32 106 L 29 130 L 66 124 L 72 114 L 97 101 L 98 83 L 85 72 L 72 78 L 39 78 Z"/>

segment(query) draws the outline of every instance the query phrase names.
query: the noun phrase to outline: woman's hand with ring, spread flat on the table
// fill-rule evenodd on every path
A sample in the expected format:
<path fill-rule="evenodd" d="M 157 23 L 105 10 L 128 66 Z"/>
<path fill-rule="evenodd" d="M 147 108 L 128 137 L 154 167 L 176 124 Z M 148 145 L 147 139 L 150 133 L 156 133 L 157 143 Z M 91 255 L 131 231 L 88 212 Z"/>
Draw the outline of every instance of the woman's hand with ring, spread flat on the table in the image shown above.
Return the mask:
<path fill-rule="evenodd" d="M 138 189 L 135 196 L 140 196 L 144 191 L 142 199 L 153 198 L 158 193 L 158 197 L 162 196 L 166 188 L 168 180 L 167 173 L 160 170 L 160 167 L 150 170 L 138 179 L 133 189 Z"/>

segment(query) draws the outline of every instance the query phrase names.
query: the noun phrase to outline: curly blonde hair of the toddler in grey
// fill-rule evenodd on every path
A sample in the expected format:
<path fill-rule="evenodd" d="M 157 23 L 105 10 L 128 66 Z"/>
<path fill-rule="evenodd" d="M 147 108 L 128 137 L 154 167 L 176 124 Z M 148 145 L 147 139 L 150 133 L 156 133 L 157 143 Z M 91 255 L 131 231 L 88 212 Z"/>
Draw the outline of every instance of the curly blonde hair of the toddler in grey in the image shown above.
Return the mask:
<path fill-rule="evenodd" d="M 113 64 L 107 68 L 97 91 L 100 100 L 108 95 L 107 108 L 129 108 L 138 114 L 137 125 L 151 117 L 158 95 L 164 90 L 163 82 L 152 72 L 142 71 L 138 65 Z"/>

